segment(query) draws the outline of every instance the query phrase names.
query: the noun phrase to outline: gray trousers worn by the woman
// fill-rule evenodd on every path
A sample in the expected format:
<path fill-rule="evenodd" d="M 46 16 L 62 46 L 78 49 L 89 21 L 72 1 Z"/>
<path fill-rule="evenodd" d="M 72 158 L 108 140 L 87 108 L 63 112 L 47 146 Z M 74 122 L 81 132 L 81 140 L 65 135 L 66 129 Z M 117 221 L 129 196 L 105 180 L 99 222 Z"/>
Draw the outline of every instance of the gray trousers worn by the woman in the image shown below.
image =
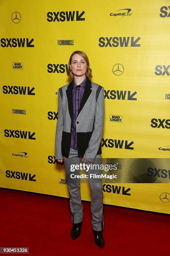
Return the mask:
<path fill-rule="evenodd" d="M 77 150 L 70 148 L 70 153 L 68 158 L 63 156 L 66 174 L 71 174 L 70 171 L 70 161 L 71 164 L 80 164 L 80 157 L 78 156 Z M 96 156 L 93 164 L 101 164 L 100 154 Z M 88 174 L 90 174 L 90 170 Z M 94 170 L 92 171 L 94 173 Z M 99 171 L 100 172 L 100 171 Z M 97 172 L 97 174 L 99 173 Z M 79 170 L 76 174 L 79 174 Z M 76 182 L 67 180 L 67 185 L 70 194 L 70 210 L 72 223 L 80 223 L 83 219 L 82 203 L 80 195 L 80 179 Z M 96 231 L 104 229 L 104 218 L 103 218 L 103 191 L 102 191 L 102 179 L 88 179 L 91 191 L 91 213 L 92 213 L 92 228 Z"/>

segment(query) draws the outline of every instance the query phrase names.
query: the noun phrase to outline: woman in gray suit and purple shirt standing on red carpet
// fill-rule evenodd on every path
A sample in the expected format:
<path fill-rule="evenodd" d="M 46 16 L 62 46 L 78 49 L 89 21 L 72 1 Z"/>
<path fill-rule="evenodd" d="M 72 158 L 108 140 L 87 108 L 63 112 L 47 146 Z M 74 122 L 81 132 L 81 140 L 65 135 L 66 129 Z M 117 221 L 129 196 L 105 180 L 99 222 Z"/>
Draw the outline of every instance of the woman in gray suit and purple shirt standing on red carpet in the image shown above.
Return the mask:
<path fill-rule="evenodd" d="M 101 138 L 104 124 L 104 88 L 90 81 L 92 70 L 87 55 L 74 51 L 69 59 L 67 75 L 72 79 L 58 89 L 58 119 L 55 137 L 55 159 L 64 159 L 70 194 L 71 236 L 80 236 L 83 219 L 80 179 L 69 179 L 70 164 L 101 163 Z M 79 170 L 75 171 L 78 173 Z M 99 171 L 100 172 L 100 171 Z M 92 170 L 89 169 L 89 173 Z M 104 246 L 102 180 L 88 179 L 91 190 L 92 231 L 95 243 Z"/>

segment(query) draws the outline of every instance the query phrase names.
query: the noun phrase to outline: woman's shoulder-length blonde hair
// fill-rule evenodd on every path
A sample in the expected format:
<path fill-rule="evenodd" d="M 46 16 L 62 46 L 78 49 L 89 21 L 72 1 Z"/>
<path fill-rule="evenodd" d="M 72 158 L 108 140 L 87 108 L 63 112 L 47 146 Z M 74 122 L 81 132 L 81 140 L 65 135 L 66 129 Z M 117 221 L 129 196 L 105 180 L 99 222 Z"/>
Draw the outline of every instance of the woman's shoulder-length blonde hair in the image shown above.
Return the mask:
<path fill-rule="evenodd" d="M 71 79 L 74 78 L 74 74 L 72 73 L 72 70 L 70 69 L 70 65 L 71 65 L 71 61 L 72 61 L 72 56 L 74 54 L 79 54 L 80 56 L 82 56 L 83 59 L 85 59 L 85 61 L 87 62 L 86 77 L 88 77 L 88 78 L 92 77 L 92 70 L 89 67 L 90 66 L 89 59 L 88 59 L 88 57 L 87 57 L 87 55 L 85 54 L 84 51 L 73 51 L 73 53 L 70 56 L 69 62 L 68 62 L 67 76 L 69 76 Z"/>

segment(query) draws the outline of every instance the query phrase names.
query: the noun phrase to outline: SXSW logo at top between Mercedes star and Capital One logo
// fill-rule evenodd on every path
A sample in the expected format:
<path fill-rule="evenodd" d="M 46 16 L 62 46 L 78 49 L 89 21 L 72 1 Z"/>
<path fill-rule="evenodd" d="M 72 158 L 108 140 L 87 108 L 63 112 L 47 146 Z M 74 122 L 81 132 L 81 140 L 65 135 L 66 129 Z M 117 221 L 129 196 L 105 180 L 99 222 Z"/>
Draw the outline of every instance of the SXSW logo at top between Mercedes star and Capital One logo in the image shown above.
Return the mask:
<path fill-rule="evenodd" d="M 54 21 L 82 21 L 85 20 L 83 15 L 85 11 L 60 11 L 60 12 L 48 12 L 47 13 L 47 21 L 54 22 Z"/>

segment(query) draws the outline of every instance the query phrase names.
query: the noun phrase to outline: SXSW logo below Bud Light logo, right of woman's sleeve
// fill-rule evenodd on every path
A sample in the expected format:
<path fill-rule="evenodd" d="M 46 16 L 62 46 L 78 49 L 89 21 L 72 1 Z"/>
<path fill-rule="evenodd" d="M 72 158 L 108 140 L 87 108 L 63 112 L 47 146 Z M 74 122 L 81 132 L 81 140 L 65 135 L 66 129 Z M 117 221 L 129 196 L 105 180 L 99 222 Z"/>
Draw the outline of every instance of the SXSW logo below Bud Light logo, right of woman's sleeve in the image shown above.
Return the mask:
<path fill-rule="evenodd" d="M 115 139 L 104 139 L 102 138 L 102 147 L 105 146 L 106 148 L 124 148 L 124 149 L 131 149 L 133 150 L 134 148 L 131 147 L 133 145 L 133 141 L 124 141 L 124 140 L 115 140 Z"/>

